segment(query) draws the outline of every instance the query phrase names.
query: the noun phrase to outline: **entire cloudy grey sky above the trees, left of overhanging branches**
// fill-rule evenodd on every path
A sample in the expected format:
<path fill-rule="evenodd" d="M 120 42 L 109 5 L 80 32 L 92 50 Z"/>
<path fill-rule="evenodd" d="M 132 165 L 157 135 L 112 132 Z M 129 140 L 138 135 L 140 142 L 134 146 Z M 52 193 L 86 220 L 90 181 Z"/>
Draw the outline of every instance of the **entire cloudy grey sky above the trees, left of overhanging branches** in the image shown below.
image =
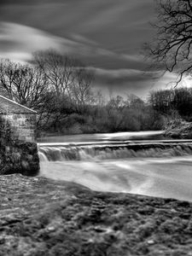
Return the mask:
<path fill-rule="evenodd" d="M 27 62 L 38 49 L 57 49 L 94 70 L 104 96 L 146 98 L 175 80 L 148 70 L 143 55 L 155 16 L 154 0 L 1 0 L 0 58 Z"/>

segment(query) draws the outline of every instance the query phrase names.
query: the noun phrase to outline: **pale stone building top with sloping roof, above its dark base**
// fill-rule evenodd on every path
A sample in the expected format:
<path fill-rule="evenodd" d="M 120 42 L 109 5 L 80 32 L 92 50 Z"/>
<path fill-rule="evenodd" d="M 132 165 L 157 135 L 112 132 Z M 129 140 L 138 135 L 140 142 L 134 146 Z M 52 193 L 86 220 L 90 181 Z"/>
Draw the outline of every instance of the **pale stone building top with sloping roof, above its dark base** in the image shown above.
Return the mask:
<path fill-rule="evenodd" d="M 37 112 L 0 96 L 0 115 L 11 125 L 15 139 L 34 142 Z"/>

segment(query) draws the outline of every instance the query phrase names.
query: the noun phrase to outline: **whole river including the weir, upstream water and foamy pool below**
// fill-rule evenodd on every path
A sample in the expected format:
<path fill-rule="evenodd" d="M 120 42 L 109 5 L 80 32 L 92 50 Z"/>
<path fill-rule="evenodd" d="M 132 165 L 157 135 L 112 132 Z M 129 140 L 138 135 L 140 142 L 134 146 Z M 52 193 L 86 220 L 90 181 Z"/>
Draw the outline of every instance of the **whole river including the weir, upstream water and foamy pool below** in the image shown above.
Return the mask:
<path fill-rule="evenodd" d="M 192 201 L 192 140 L 162 131 L 44 137 L 40 175 L 97 191 Z"/>

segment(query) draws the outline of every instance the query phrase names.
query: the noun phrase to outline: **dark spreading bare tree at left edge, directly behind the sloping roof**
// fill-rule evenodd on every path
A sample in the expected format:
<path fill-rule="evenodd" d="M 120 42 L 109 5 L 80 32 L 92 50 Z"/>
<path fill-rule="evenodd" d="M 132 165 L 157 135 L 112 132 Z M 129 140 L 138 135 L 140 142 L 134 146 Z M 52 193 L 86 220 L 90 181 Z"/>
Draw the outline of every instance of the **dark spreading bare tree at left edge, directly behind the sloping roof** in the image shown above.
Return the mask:
<path fill-rule="evenodd" d="M 38 126 L 46 125 L 55 112 L 55 95 L 48 79 L 37 67 L 1 60 L 0 90 L 9 99 L 37 110 Z"/>

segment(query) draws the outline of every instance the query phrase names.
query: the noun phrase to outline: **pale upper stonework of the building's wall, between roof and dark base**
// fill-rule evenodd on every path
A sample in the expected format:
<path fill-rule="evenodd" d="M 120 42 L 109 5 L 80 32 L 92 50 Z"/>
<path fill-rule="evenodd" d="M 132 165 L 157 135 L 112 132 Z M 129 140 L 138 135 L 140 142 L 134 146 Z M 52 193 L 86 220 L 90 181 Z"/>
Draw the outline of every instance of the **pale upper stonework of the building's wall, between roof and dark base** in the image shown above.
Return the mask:
<path fill-rule="evenodd" d="M 15 140 L 35 142 L 36 113 L 8 113 L 2 117 L 11 125 Z"/>

